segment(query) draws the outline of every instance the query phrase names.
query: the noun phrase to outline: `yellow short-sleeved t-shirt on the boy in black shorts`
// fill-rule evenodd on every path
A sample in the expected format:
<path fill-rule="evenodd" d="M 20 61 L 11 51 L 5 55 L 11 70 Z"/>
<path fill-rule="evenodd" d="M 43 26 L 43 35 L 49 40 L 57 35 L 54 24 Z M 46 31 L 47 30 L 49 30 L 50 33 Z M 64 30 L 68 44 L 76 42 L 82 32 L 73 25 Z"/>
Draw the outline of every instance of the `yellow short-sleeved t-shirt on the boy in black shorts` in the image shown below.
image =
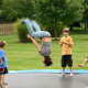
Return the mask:
<path fill-rule="evenodd" d="M 62 37 L 59 44 L 62 44 L 63 40 L 65 40 L 70 45 L 74 44 L 73 38 L 70 36 Z M 72 55 L 72 46 L 67 45 L 66 43 L 63 43 L 62 55 Z"/>

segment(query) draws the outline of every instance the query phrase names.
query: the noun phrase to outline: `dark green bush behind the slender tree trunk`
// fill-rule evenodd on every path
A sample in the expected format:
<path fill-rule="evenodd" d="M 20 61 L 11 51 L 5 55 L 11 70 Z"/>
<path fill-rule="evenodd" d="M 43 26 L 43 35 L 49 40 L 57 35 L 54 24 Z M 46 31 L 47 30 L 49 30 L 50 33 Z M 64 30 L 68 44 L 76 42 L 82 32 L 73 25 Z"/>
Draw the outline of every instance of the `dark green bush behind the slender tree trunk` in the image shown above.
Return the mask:
<path fill-rule="evenodd" d="M 52 35 L 52 37 L 55 37 L 55 24 L 47 24 L 45 25 L 45 30 L 48 31 Z M 59 37 L 59 35 L 63 33 L 64 30 L 64 24 L 62 22 L 57 23 L 57 36 Z"/>

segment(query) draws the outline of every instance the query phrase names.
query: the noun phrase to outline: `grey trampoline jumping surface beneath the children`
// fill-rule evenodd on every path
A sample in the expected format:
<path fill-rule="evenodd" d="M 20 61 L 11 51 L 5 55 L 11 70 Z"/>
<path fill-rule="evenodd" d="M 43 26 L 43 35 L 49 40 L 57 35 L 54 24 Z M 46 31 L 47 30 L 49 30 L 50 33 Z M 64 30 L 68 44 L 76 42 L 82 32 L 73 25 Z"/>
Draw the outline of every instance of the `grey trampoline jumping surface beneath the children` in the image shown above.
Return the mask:
<path fill-rule="evenodd" d="M 88 88 L 88 74 L 8 74 L 8 88 Z"/>

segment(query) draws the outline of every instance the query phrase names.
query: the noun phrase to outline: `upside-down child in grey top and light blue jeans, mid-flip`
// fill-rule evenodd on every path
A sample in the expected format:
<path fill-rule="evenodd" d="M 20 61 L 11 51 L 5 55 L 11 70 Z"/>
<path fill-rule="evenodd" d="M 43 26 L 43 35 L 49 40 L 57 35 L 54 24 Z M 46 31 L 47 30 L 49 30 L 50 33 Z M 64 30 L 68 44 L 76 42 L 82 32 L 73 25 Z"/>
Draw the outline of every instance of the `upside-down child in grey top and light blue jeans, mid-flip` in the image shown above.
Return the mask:
<path fill-rule="evenodd" d="M 25 24 L 28 28 L 28 31 L 30 34 L 28 34 L 28 38 L 30 38 L 34 45 L 36 46 L 38 53 L 43 56 L 43 63 L 45 66 L 52 65 L 52 38 L 51 34 L 46 31 L 41 31 L 38 24 L 35 21 L 30 22 L 30 20 L 26 18 L 22 21 L 22 24 Z M 33 28 L 36 30 L 34 31 Z M 37 44 L 37 42 L 33 38 L 37 37 L 42 41 L 42 47 Z"/>

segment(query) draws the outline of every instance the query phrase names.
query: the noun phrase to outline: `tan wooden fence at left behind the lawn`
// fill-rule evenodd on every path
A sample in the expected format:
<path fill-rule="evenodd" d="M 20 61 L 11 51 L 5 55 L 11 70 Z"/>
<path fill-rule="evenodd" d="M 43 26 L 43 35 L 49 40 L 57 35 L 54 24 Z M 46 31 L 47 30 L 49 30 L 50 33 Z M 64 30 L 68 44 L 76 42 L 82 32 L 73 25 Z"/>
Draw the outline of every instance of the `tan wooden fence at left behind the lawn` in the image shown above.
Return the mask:
<path fill-rule="evenodd" d="M 14 23 L 1 23 L 0 24 L 0 35 L 13 34 L 14 33 Z"/>

